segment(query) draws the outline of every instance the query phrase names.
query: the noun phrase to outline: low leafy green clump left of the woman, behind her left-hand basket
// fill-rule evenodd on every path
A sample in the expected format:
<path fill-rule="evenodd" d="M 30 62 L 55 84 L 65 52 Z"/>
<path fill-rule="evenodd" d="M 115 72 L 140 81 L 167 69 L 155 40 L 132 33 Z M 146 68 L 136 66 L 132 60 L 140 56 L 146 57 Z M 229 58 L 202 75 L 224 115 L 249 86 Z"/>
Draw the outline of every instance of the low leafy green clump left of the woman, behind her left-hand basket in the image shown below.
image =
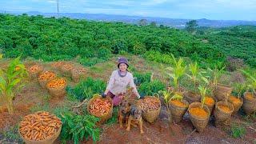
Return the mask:
<path fill-rule="evenodd" d="M 70 98 L 82 101 L 86 98 L 90 99 L 94 94 L 102 94 L 106 88 L 106 82 L 101 79 L 86 78 L 79 82 L 76 86 L 67 86 L 66 91 Z"/>

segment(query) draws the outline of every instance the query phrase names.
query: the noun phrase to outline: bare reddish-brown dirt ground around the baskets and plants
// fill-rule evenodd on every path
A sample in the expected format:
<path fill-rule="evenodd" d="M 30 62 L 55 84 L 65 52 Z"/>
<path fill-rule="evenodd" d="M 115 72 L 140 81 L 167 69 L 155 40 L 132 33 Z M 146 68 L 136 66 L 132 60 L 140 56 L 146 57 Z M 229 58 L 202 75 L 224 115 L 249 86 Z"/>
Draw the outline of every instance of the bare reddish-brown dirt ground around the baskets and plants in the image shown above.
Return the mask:
<path fill-rule="evenodd" d="M 150 70 L 150 66 L 146 64 L 141 58 L 134 58 L 134 67 L 140 71 Z M 107 63 L 100 63 L 93 66 L 88 71 L 87 76 L 93 78 L 102 78 L 107 80 L 111 71 L 114 70 L 114 59 Z M 2 63 L 3 64 L 3 63 Z M 50 64 L 43 64 L 50 70 Z M 2 65 L 4 66 L 4 65 Z M 160 68 L 158 70 L 161 70 Z M 155 77 L 160 78 L 161 73 L 155 71 Z M 166 81 L 166 78 L 162 78 Z M 68 82 L 71 86 L 75 83 Z M 4 134 L 11 127 L 17 126 L 22 117 L 26 114 L 31 114 L 37 110 L 52 111 L 58 106 L 69 106 L 70 102 L 67 98 L 54 101 L 50 99 L 50 95 L 46 90 L 42 90 L 36 80 L 28 80 L 26 86 L 22 88 L 14 99 L 14 114 L 10 115 L 6 110 L 0 111 L 0 143 L 20 143 L 20 138 L 6 138 Z M 231 126 L 223 126 L 217 128 L 214 126 L 213 119 L 211 118 L 209 126 L 206 130 L 199 134 L 194 130 L 192 123 L 189 120 L 188 114 L 185 114 L 181 123 L 174 124 L 168 122 L 168 114 L 166 107 L 162 103 L 162 110 L 159 118 L 153 124 L 143 122 L 143 129 L 145 134 L 139 134 L 138 128 L 132 127 L 130 132 L 124 128 L 119 128 L 118 124 L 102 125 L 102 135 L 100 141 L 97 143 L 256 143 L 256 118 L 248 118 L 239 114 L 232 117 L 231 124 L 238 123 L 240 126 L 246 126 L 246 134 L 243 138 L 233 138 L 231 136 Z M 17 131 L 14 135 L 17 135 Z M 55 143 L 61 143 L 57 140 Z M 82 143 L 93 143 L 92 140 Z"/>

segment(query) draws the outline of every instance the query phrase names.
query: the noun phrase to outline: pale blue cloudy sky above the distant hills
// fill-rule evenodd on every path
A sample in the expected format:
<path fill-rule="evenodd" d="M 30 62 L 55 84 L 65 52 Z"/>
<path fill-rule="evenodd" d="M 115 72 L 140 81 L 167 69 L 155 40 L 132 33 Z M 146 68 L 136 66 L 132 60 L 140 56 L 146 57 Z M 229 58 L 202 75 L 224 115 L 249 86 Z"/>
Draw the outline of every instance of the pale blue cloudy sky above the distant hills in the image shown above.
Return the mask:
<path fill-rule="evenodd" d="M 60 12 L 256 20 L 256 0 L 59 0 Z M 0 0 L 0 10 L 56 12 L 57 0 Z"/>

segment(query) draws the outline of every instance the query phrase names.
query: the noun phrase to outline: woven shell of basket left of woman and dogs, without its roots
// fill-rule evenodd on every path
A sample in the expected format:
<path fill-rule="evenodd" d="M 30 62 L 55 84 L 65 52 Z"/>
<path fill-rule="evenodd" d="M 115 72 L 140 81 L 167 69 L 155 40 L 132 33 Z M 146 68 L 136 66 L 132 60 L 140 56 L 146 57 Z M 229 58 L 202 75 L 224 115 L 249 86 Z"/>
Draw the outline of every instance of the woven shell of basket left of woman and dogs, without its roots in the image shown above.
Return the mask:
<path fill-rule="evenodd" d="M 87 111 L 88 111 L 89 114 L 94 115 L 95 117 L 100 118 L 100 121 L 99 121 L 98 123 L 101 124 L 101 123 L 103 123 L 103 122 L 106 122 L 106 120 L 108 120 L 109 118 L 112 117 L 112 113 L 113 113 L 113 102 L 112 102 L 112 99 L 111 99 L 111 98 L 106 97 L 106 98 L 107 98 L 108 100 L 110 100 L 110 102 L 111 102 L 111 107 L 110 107 L 109 112 L 106 113 L 106 114 L 102 114 L 102 115 L 92 114 L 92 113 L 90 113 L 90 104 L 91 104 L 92 102 L 94 102 L 94 100 L 97 99 L 97 98 L 101 98 L 101 99 L 102 99 L 102 97 L 99 96 L 99 95 L 95 95 L 94 98 L 91 98 L 90 101 L 89 101 L 88 104 L 87 104 Z"/>

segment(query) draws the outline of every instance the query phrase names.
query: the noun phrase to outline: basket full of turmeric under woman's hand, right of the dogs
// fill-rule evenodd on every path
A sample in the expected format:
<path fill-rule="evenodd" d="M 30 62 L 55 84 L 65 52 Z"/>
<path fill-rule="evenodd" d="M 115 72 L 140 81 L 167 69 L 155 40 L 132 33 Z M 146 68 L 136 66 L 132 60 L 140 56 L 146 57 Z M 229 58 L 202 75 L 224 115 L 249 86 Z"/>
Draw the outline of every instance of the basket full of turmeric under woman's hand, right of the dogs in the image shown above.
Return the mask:
<path fill-rule="evenodd" d="M 139 99 L 137 105 L 142 109 L 142 118 L 147 122 L 152 123 L 158 118 L 161 110 L 159 98 L 146 96 L 145 98 Z"/>

